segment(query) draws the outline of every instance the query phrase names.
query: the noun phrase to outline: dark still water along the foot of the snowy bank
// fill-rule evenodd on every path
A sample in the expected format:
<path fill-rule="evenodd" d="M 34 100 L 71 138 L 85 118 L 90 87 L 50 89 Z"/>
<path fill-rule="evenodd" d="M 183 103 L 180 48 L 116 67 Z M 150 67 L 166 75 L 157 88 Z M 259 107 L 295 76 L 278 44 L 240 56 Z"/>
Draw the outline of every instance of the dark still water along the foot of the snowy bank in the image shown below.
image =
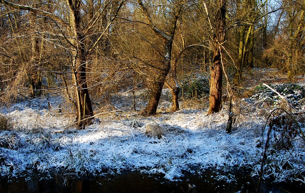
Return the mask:
<path fill-rule="evenodd" d="M 64 192 L 64 193 L 88 193 L 88 192 L 255 192 L 257 180 L 249 175 L 239 174 L 237 182 L 227 183 L 213 180 L 211 172 L 198 175 L 185 174 L 181 182 L 170 182 L 162 177 L 140 174 L 140 172 L 123 171 L 117 176 L 94 177 L 67 174 L 66 172 L 53 172 L 53 179 L 41 179 L 42 174 L 31 174 L 31 180 L 27 177 L 0 180 L 0 192 Z M 235 176 L 236 177 L 236 176 Z M 297 182 L 273 185 L 264 182 L 260 192 L 284 193 L 305 192 L 305 185 Z"/>

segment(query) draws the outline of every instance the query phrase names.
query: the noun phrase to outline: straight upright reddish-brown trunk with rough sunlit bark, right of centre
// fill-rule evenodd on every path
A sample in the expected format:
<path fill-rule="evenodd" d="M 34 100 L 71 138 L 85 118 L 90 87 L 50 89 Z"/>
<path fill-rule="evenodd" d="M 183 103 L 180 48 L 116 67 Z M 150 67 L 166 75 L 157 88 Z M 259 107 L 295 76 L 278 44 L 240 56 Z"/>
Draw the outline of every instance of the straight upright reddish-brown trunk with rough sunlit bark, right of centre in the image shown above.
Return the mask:
<path fill-rule="evenodd" d="M 226 4 L 227 0 L 217 0 L 217 9 L 215 21 L 216 30 L 214 34 L 214 57 L 211 65 L 211 82 L 210 82 L 210 108 L 208 114 L 219 112 L 221 110 L 222 97 L 222 46 L 226 35 Z"/>

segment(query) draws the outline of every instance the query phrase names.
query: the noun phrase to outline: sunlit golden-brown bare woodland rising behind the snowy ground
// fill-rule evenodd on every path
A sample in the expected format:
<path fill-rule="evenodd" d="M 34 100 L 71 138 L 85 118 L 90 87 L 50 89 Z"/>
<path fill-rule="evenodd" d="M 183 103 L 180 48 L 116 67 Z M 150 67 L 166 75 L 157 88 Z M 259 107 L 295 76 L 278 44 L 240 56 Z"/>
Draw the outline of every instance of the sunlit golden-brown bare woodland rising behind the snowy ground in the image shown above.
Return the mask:
<path fill-rule="evenodd" d="M 148 90 L 143 115 L 156 114 L 163 87 L 170 88 L 177 111 L 181 81 L 204 72 L 208 112 L 219 112 L 223 92 L 234 97 L 245 72 L 274 68 L 287 80 L 302 73 L 303 5 L 2 0 L 1 100 L 62 92 L 81 128 L 94 116 L 92 98 L 109 99 L 109 92 L 138 84 Z"/>

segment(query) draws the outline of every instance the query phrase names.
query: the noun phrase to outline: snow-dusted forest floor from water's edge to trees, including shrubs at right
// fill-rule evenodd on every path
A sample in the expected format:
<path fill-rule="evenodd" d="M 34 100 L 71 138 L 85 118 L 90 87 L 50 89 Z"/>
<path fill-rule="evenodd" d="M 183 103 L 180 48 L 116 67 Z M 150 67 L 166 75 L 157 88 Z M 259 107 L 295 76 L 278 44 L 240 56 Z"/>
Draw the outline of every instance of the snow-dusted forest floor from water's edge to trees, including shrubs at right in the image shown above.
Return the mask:
<path fill-rule="evenodd" d="M 206 100 L 185 99 L 181 110 L 170 112 L 168 89 L 157 115 L 150 117 L 130 110 L 132 103 L 124 97 L 131 93 L 113 97 L 113 111 L 105 112 L 95 102 L 95 114 L 103 114 L 82 130 L 75 129 L 71 106 L 59 94 L 4 105 L 0 121 L 8 124 L 0 130 L 0 175 L 19 177 L 33 170 L 48 174 L 62 168 L 79 175 L 137 170 L 179 181 L 185 172 L 200 176 L 213 168 L 222 171 L 215 172 L 215 179 L 230 182 L 235 181 L 233 168 L 259 175 L 271 127 L 264 179 L 304 183 L 305 80 L 288 83 L 272 75 L 262 80 L 249 81 L 233 100 L 232 133 L 225 132 L 228 102 L 221 112 L 207 115 Z M 137 108 L 145 102 L 138 102 Z M 275 109 L 279 107 L 287 112 Z M 195 167 L 199 169 L 193 171 Z"/>

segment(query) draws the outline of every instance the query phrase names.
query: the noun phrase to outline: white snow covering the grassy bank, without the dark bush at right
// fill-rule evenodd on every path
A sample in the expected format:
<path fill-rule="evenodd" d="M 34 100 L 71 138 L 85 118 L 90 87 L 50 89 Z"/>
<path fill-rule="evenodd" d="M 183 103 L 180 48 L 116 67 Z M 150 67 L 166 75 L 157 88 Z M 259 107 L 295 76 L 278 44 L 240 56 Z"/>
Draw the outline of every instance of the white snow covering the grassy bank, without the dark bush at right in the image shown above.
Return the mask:
<path fill-rule="evenodd" d="M 1 131 L 0 139 L 15 136 L 15 142 L 0 140 L 0 173 L 18 177 L 33 169 L 49 172 L 65 168 L 78 174 L 105 175 L 131 169 L 177 181 L 184 176 L 184 171 L 200 175 L 210 168 L 227 172 L 237 167 L 248 168 L 255 176 L 260 171 L 262 143 L 266 138 L 266 131 L 262 137 L 266 116 L 261 112 L 271 111 L 271 107 L 263 109 L 263 104 L 270 99 L 280 100 L 269 97 L 268 93 L 240 100 L 233 108 L 238 115 L 232 134 L 225 132 L 226 105 L 213 115 L 206 115 L 207 109 L 160 112 L 152 117 L 129 111 L 109 112 L 98 116 L 85 130 L 76 130 L 73 126 L 67 128 L 75 118 L 59 112 L 60 105 L 66 103 L 62 96 L 47 95 L 22 101 L 2 108 L 2 114 L 13 119 L 15 129 Z M 286 97 L 298 98 L 299 94 L 300 91 Z M 148 124 L 185 132 L 168 132 L 158 139 L 145 135 Z M 264 177 L 304 181 L 295 175 L 305 171 L 302 146 L 291 152 L 284 151 L 268 154 L 274 164 L 264 166 Z M 194 167 L 200 169 L 193 171 Z M 235 181 L 232 174 L 218 173 L 213 177 Z"/>

